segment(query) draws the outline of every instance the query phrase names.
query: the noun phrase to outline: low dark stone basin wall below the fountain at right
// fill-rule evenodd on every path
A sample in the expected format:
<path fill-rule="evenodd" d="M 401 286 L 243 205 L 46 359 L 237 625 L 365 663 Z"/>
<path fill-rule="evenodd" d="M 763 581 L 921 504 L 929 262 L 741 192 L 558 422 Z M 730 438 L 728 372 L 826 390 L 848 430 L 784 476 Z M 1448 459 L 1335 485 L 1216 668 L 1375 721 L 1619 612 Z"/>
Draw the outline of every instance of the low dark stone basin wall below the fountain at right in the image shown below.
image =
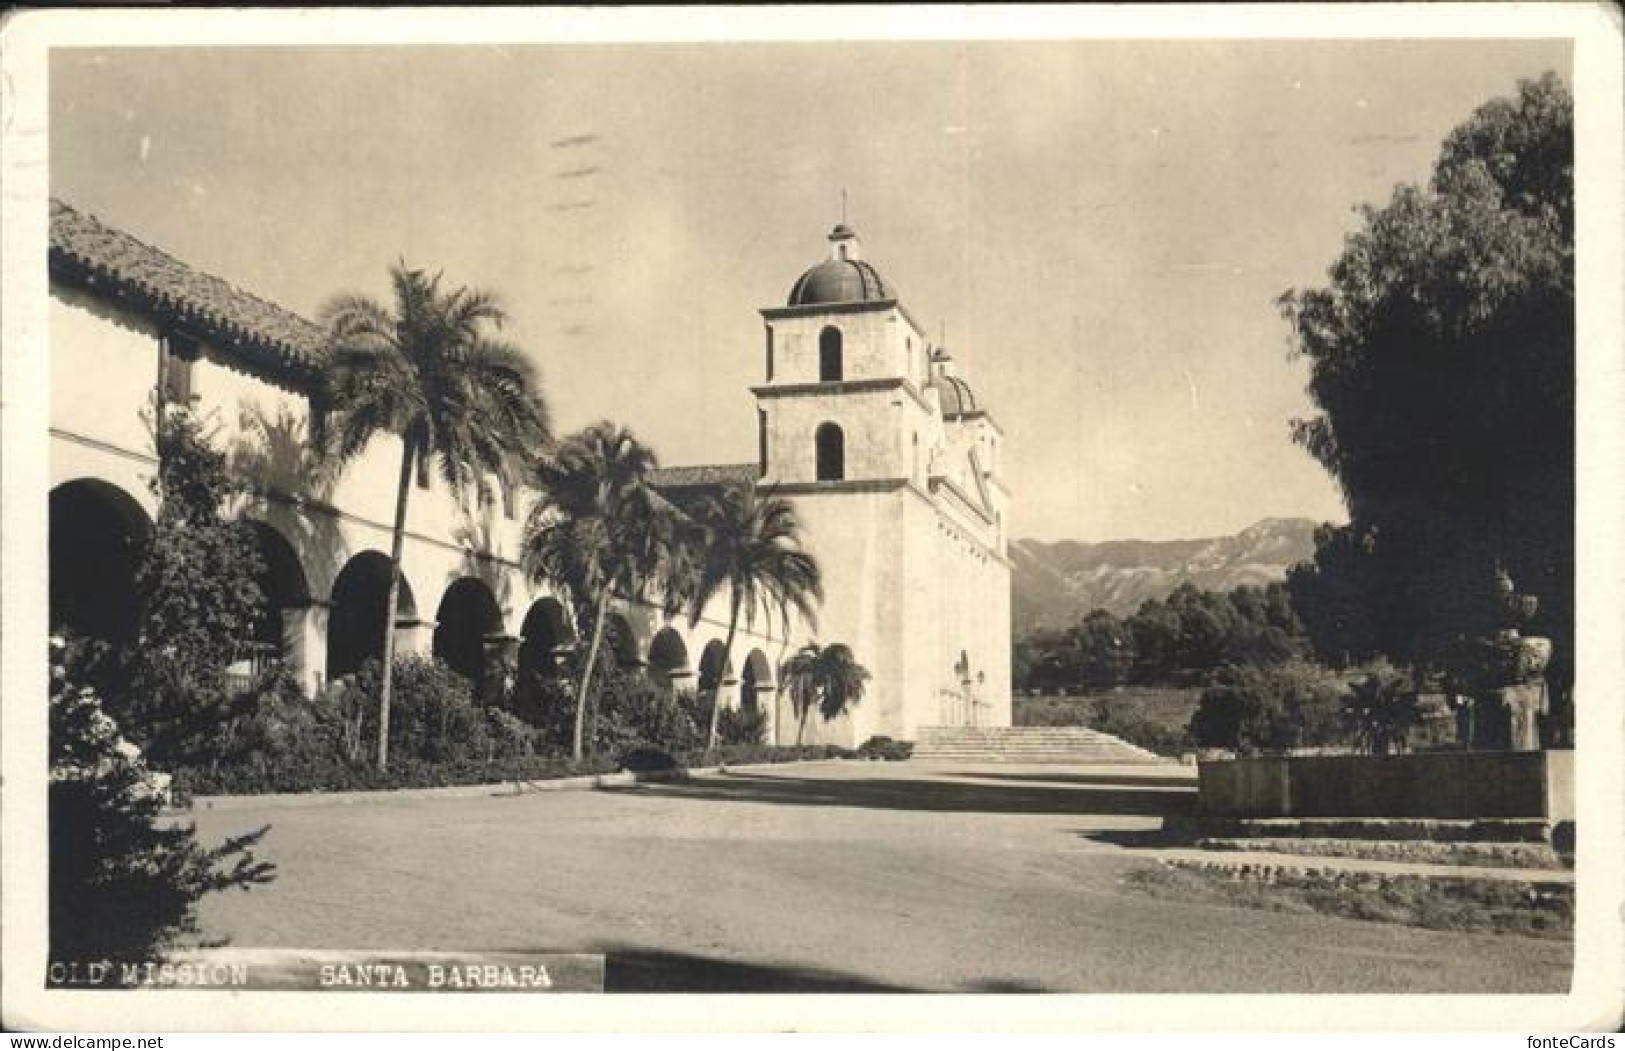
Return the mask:
<path fill-rule="evenodd" d="M 1575 817 L 1573 752 L 1266 755 L 1198 778 L 1207 817 Z"/>

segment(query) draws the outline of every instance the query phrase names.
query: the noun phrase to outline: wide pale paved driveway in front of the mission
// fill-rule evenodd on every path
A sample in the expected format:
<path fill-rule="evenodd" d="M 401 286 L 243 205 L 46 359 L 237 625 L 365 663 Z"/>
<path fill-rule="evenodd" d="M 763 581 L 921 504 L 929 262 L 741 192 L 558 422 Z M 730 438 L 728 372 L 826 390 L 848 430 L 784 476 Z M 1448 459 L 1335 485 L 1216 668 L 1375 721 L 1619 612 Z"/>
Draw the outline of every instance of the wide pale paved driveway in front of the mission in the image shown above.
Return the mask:
<path fill-rule="evenodd" d="M 1565 991 L 1563 942 L 1152 898 L 1168 767 L 808 763 L 687 785 L 198 815 L 280 879 L 240 947 L 606 952 L 611 989 Z"/>

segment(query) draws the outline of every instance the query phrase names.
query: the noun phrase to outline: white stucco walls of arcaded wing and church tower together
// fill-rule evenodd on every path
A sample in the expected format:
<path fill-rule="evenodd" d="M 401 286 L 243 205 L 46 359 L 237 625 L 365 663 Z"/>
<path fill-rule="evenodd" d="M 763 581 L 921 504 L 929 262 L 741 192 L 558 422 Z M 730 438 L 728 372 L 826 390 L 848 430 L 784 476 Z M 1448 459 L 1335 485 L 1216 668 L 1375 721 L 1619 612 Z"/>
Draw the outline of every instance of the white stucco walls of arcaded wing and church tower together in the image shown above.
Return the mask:
<path fill-rule="evenodd" d="M 772 312 L 767 312 L 772 314 Z M 141 422 L 159 369 L 159 330 L 132 310 L 70 288 L 52 288 L 50 304 L 50 466 L 52 482 L 76 478 L 107 481 L 151 515 L 146 489 L 154 461 Z M 767 484 L 788 484 L 806 526 L 808 549 L 824 570 L 826 599 L 817 627 L 793 624 L 785 632 L 767 619 L 741 624 L 733 669 L 752 651 L 777 669 L 808 640 L 842 642 L 873 674 L 855 711 L 834 723 L 816 715 L 808 741 L 856 746 L 873 734 L 913 737 L 938 724 L 960 690 L 954 669 L 968 660 L 983 707 L 977 720 L 1009 723 L 1009 565 L 1003 520 L 1009 495 L 999 481 L 1001 435 L 985 417 L 944 421 L 938 391 L 928 385 L 928 341 L 897 307 L 829 317 L 769 317 L 774 331 L 774 375 L 769 387 L 814 385 L 786 396 L 762 396 L 769 447 Z M 827 323 L 843 331 L 843 382 L 860 388 L 819 385 L 817 335 Z M 247 414 L 306 424 L 306 400 L 294 390 L 232 365 L 214 348 L 202 348 L 193 365 L 195 411 L 218 424 L 218 440 L 231 448 L 254 440 Z M 746 385 L 756 377 L 741 377 Z M 863 390 L 863 380 L 900 380 Z M 845 435 L 845 478 L 858 484 L 816 484 L 814 434 L 835 422 Z M 630 421 L 635 426 L 635 421 Z M 968 452 L 977 448 L 982 486 Z M 349 559 L 387 554 L 393 518 L 400 442 L 380 437 L 312 505 L 249 499 L 242 513 L 270 523 L 294 547 L 317 606 L 292 625 L 289 643 L 309 679 L 325 671 L 325 609 L 333 580 Z M 952 479 L 959 492 L 933 481 Z M 262 479 L 263 481 L 263 479 Z M 863 484 L 876 482 L 876 484 Z M 281 484 L 292 489 L 289 479 Z M 991 508 L 980 507 L 986 494 Z M 500 608 L 500 632 L 518 635 L 533 603 L 548 598 L 517 570 L 522 526 L 530 505 L 520 494 L 514 518 L 500 499 L 488 507 L 460 507 L 436 479 L 413 484 L 401 569 L 418 625 L 400 630 L 408 650 L 431 645 L 445 590 L 462 577 L 484 580 Z M 985 517 L 991 512 L 990 517 Z M 991 520 L 990 520 L 991 518 Z M 479 551 L 489 557 L 476 559 Z M 567 606 L 567 604 L 566 604 Z M 619 606 L 634 629 L 640 656 L 663 627 L 684 643 L 699 669 L 707 643 L 726 635 L 726 603 L 718 599 L 697 624 L 666 619 L 648 606 Z M 297 617 L 296 617 L 297 621 Z M 297 630 L 294 630 L 297 629 Z M 292 635 L 299 635 L 294 638 Z M 689 681 L 692 686 L 692 679 Z M 738 686 L 723 689 L 738 700 Z M 782 695 L 760 700 L 775 713 L 775 739 L 795 739 L 795 720 Z"/>

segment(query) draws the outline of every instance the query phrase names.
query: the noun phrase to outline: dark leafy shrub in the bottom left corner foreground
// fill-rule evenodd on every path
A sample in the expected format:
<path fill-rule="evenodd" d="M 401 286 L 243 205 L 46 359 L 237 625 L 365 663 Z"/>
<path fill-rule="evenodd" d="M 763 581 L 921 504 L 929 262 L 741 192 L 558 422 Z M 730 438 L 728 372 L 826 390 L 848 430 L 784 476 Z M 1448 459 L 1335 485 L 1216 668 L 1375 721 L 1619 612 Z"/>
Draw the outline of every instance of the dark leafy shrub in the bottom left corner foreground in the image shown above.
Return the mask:
<path fill-rule="evenodd" d="M 52 638 L 50 955 L 150 960 L 198 934 L 203 895 L 271 880 L 252 851 L 265 828 L 205 850 L 190 825 L 164 820 L 162 781 L 65 660 Z"/>

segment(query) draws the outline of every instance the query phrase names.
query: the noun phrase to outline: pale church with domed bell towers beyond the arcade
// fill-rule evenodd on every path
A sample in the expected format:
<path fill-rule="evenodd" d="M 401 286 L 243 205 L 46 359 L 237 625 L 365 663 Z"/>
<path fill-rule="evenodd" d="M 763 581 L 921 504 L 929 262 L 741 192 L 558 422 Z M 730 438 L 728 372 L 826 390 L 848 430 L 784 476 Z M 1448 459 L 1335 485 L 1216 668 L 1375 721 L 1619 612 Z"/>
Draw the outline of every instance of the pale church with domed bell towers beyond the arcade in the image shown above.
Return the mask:
<path fill-rule="evenodd" d="M 855 231 L 762 312 L 762 484 L 826 567 L 821 634 L 874 674 L 845 736 L 1011 723 L 1004 434 Z"/>

